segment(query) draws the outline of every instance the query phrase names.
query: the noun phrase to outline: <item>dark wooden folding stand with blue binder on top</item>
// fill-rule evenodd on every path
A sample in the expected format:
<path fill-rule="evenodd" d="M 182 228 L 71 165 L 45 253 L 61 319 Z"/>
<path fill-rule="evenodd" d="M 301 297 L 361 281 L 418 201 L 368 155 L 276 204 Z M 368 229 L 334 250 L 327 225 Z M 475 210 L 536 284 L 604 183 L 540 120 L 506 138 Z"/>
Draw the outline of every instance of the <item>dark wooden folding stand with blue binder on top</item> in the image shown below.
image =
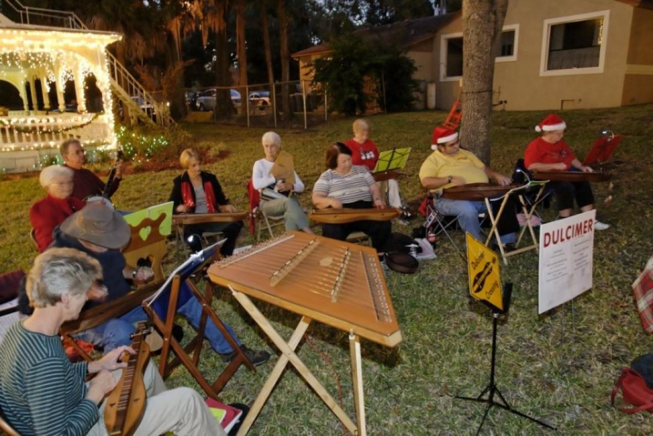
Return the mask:
<path fill-rule="evenodd" d="M 247 366 L 249 370 L 255 371 L 253 364 L 211 308 L 213 299 L 212 282 L 206 280 L 206 289 L 203 294 L 197 289 L 196 282 L 206 277 L 206 269 L 219 257 L 221 242 L 202 250 L 202 252 L 191 255 L 187 261 L 170 274 L 156 293 L 143 301 L 145 312 L 148 313 L 151 321 L 163 336 L 163 348 L 159 360 L 161 377 L 167 377 L 174 368 L 183 364 L 197 383 L 202 386 L 204 392 L 215 400 L 219 400 L 217 394 L 238 371 L 241 364 Z M 172 327 L 174 326 L 174 318 L 178 308 L 183 306 L 190 298 L 197 298 L 202 306 L 202 315 L 197 328 L 197 335 L 185 347 L 182 347 L 176 338 L 172 336 Z M 227 368 L 217 377 L 214 383 L 210 383 L 198 368 L 202 342 L 204 341 L 204 329 L 208 319 L 213 321 L 215 327 L 220 330 L 225 336 L 225 340 L 229 342 L 231 348 L 236 352 Z M 169 359 L 171 352 L 176 355 L 172 360 Z"/>

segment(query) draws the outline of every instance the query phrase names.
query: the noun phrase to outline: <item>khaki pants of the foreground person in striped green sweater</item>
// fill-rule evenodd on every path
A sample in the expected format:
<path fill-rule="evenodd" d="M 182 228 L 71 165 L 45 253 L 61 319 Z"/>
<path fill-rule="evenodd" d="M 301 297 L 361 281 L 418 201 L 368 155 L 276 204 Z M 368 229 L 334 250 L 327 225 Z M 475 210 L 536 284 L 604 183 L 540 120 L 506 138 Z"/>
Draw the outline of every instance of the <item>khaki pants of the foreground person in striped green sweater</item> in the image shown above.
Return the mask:
<path fill-rule="evenodd" d="M 119 377 L 121 370 L 114 371 Z M 150 362 L 143 375 L 148 403 L 135 436 L 163 435 L 172 431 L 175 436 L 226 436 L 227 433 L 211 414 L 200 394 L 191 388 L 167 390 L 159 371 Z M 88 435 L 106 436 L 104 405 L 100 405 L 100 419 Z"/>

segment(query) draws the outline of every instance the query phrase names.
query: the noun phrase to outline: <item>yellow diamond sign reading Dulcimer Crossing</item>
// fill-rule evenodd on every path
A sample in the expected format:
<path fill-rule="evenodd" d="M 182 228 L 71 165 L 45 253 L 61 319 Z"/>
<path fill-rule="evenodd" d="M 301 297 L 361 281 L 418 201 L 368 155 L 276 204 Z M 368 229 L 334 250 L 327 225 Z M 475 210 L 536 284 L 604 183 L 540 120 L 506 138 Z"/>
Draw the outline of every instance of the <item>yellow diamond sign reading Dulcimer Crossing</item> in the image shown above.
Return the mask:
<path fill-rule="evenodd" d="M 483 243 L 466 233 L 467 270 L 470 279 L 470 295 L 503 310 L 499 257 Z"/>

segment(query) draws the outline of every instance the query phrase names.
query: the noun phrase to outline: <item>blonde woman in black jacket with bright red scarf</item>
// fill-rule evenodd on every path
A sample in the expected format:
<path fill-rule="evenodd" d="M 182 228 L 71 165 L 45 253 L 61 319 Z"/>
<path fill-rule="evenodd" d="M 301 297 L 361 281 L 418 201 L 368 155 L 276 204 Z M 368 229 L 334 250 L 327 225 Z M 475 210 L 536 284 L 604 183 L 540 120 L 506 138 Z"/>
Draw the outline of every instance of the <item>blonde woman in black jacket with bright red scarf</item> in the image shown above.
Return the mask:
<path fill-rule="evenodd" d="M 186 171 L 173 181 L 168 201 L 174 202 L 174 213 L 236 212 L 222 192 L 217 177 L 208 171 L 202 171 L 202 156 L 196 150 L 182 151 L 179 162 Z M 183 227 L 183 236 L 186 238 L 193 234 L 201 236 L 205 232 L 222 232 L 227 241 L 220 248 L 220 254 L 229 256 L 234 252 L 236 238 L 242 227 L 242 221 L 189 224 Z"/>

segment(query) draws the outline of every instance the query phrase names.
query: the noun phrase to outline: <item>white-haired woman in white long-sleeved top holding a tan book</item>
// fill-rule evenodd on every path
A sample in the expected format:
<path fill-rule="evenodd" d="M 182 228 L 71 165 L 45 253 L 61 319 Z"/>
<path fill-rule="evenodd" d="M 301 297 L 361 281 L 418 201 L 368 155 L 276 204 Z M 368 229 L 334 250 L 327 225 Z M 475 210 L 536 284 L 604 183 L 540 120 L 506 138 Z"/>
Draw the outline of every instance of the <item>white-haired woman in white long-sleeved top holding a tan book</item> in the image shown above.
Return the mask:
<path fill-rule="evenodd" d="M 265 157 L 254 162 L 251 180 L 255 189 L 262 192 L 261 211 L 270 216 L 283 215 L 286 230 L 302 230 L 313 233 L 308 218 L 295 193 L 304 192 L 304 182 L 295 172 L 295 182 L 277 180 L 270 171 L 281 151 L 281 137 L 266 132 L 261 138 Z M 270 192 L 270 196 L 266 195 Z"/>

